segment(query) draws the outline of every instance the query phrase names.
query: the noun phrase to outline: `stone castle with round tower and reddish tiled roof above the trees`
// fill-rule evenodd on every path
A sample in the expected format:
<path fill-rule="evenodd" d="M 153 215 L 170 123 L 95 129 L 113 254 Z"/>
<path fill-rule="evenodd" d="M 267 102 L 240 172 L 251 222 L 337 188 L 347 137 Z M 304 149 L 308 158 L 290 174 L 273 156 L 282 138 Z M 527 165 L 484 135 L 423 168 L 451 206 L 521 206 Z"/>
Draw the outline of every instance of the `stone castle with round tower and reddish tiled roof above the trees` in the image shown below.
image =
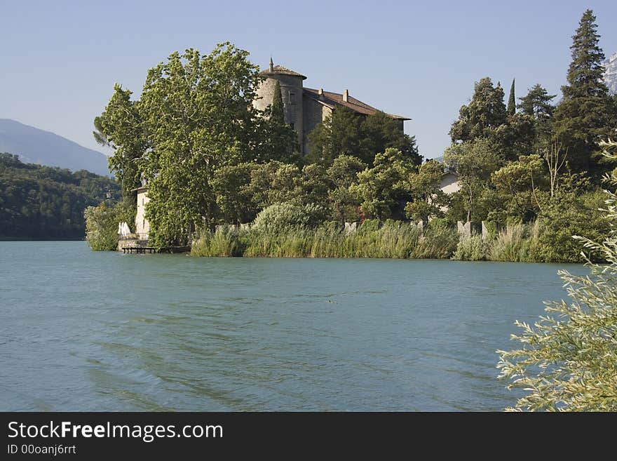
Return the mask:
<path fill-rule="evenodd" d="M 379 109 L 353 98 L 347 90 L 343 93 L 332 93 L 331 91 L 323 91 L 323 88 L 318 90 L 304 88 L 303 81 L 306 80 L 306 76 L 280 65 L 275 66 L 272 59 L 270 60 L 270 67 L 262 70 L 259 74 L 266 79 L 257 88 L 258 98 L 253 104 L 259 110 L 264 110 L 271 105 L 274 88 L 276 88 L 278 81 L 280 93 L 283 97 L 285 123 L 289 123 L 297 133 L 298 145 L 302 154 L 308 153 L 308 133 L 311 133 L 318 123 L 331 116 L 332 111 L 337 107 L 347 107 L 361 116 L 379 112 Z M 410 120 L 400 115 L 386 115 L 400 122 L 401 131 L 403 131 L 405 120 Z"/>

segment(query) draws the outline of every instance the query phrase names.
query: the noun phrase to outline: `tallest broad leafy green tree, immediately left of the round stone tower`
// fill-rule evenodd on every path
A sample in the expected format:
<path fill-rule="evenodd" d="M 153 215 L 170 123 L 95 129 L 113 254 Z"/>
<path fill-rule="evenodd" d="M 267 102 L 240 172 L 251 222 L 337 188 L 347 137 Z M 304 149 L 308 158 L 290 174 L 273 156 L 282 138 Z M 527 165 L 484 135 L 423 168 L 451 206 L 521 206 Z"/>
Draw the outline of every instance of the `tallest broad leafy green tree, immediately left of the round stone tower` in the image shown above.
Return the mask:
<path fill-rule="evenodd" d="M 217 168 L 255 158 L 260 114 L 252 106 L 262 77 L 248 52 L 225 43 L 202 56 L 172 53 L 149 70 L 140 113 L 149 136 L 144 176 L 154 246 L 186 239 L 217 220 Z"/>

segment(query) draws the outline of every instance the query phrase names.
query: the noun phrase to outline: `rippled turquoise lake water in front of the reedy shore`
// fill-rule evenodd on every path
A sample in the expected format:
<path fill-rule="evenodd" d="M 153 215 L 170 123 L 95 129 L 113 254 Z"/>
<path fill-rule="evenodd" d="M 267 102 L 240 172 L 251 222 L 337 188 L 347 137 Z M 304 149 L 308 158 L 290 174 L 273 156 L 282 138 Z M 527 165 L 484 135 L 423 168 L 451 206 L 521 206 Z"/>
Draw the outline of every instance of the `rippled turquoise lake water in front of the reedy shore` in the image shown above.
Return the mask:
<path fill-rule="evenodd" d="M 560 268 L 0 242 L 0 410 L 501 410 Z"/>

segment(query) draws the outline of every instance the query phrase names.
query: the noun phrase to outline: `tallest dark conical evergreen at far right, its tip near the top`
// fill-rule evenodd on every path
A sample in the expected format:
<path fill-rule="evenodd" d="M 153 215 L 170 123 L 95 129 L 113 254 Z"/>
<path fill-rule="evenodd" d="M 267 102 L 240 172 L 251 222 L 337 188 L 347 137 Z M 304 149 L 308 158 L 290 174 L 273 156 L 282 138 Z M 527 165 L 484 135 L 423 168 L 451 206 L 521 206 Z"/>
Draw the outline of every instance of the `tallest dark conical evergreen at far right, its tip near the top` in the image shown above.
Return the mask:
<path fill-rule="evenodd" d="M 555 134 L 569 150 L 574 171 L 602 173 L 597 164 L 597 142 L 609 135 L 609 92 L 602 81 L 604 53 L 599 48 L 595 16 L 585 11 L 572 36 L 572 62 L 563 100 L 555 111 Z"/>

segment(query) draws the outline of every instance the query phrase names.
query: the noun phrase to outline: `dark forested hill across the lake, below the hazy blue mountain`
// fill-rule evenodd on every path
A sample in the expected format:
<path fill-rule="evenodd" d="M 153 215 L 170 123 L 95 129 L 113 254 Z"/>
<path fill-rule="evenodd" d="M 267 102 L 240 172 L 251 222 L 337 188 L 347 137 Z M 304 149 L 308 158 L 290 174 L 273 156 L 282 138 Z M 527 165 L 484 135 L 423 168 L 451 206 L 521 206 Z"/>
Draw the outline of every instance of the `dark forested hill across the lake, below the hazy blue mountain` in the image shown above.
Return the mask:
<path fill-rule="evenodd" d="M 110 178 L 22 163 L 17 155 L 0 153 L 0 237 L 83 239 L 83 209 L 100 203 L 107 190 L 120 195 Z"/>

